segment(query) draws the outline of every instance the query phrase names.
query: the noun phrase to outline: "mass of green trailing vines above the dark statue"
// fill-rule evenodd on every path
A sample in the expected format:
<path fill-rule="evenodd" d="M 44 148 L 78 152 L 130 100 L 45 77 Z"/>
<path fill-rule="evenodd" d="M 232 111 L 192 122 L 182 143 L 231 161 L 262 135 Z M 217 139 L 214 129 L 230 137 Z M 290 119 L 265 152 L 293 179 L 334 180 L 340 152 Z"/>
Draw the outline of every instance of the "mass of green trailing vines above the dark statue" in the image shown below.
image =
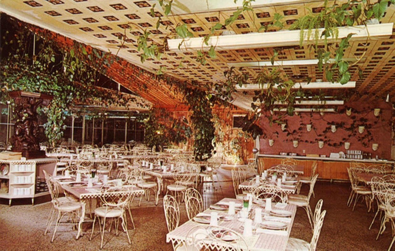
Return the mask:
<path fill-rule="evenodd" d="M 40 33 L 37 30 L 40 36 L 34 36 L 26 28 L 27 24 L 10 19 L 4 13 L 1 19 L 2 23 L 12 26 L 9 29 L 12 33 L 7 31 L 1 38 L 0 102 L 12 102 L 8 92 L 13 90 L 53 95 L 49 108 L 39 110 L 39 113 L 47 115 L 44 128 L 51 145 L 57 145 L 62 138 L 66 113 L 76 102 L 93 100 L 102 102 L 103 106 L 127 106 L 128 98 L 124 98 L 122 93 L 95 86 L 100 74 L 97 69 L 104 70 L 103 66 L 108 66 L 113 60 L 109 53 L 96 49 L 88 52 L 77 42 L 71 48 L 64 48 L 51 39 L 51 32 Z M 34 43 L 38 46 L 33 53 Z M 88 65 L 87 60 L 94 67 Z"/>

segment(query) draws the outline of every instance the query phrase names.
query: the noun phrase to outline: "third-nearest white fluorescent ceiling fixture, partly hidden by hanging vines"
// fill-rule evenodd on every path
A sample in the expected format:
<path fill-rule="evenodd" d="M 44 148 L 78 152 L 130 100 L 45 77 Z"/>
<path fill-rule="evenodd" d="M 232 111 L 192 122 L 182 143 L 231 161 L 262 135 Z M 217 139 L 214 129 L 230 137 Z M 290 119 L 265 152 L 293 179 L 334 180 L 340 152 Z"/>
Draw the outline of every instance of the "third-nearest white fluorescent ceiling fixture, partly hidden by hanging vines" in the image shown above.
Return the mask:
<path fill-rule="evenodd" d="M 293 85 L 293 89 L 299 89 L 302 87 L 303 89 L 343 89 L 343 88 L 355 88 L 355 81 L 350 81 L 345 83 L 344 85 L 335 82 L 310 82 L 310 83 L 295 83 Z M 258 91 L 261 89 L 267 89 L 267 84 L 263 84 L 263 88 L 260 84 L 248 84 L 235 86 L 237 91 Z"/>

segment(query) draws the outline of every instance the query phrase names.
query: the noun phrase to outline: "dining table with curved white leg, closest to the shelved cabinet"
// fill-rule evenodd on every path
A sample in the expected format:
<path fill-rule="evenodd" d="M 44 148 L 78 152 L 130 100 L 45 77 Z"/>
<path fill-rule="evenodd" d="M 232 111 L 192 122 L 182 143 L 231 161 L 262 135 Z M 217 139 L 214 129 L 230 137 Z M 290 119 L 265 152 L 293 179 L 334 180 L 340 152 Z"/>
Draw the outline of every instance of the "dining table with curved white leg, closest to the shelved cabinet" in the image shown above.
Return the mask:
<path fill-rule="evenodd" d="M 54 179 L 60 184 L 62 189 L 69 194 L 72 194 L 82 203 L 81 215 L 78 223 L 78 231 L 76 239 L 82 235 L 82 224 L 85 219 L 86 212 L 86 202 L 87 200 L 92 200 L 93 198 L 100 198 L 103 196 L 102 187 L 110 183 L 119 184 L 117 179 L 108 180 L 107 183 L 103 182 L 103 176 L 96 176 L 92 185 L 88 184 L 88 178 L 85 177 L 81 181 L 77 182 L 75 176 L 54 176 Z M 135 185 L 118 185 L 119 189 L 112 192 L 106 192 L 106 196 L 119 196 L 125 193 L 132 193 L 130 201 L 133 200 L 135 196 L 143 196 L 144 190 Z M 129 215 L 132 218 L 132 214 L 129 208 Z"/>

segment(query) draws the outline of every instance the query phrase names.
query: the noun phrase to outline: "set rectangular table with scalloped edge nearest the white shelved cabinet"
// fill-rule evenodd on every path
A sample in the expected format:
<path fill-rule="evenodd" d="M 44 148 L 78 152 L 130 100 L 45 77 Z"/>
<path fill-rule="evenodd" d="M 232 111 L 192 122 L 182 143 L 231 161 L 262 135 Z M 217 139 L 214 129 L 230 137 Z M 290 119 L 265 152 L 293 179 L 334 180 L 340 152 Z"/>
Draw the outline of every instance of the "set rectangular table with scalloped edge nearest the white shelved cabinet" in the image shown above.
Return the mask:
<path fill-rule="evenodd" d="M 77 232 L 77 236 L 76 236 L 76 239 L 78 239 L 79 236 L 81 235 L 82 223 L 85 218 L 86 200 L 92 199 L 92 198 L 100 198 L 100 196 L 103 196 L 103 193 L 101 191 L 102 184 L 96 183 L 96 184 L 93 184 L 92 187 L 88 187 L 88 181 L 82 181 L 82 183 L 86 183 L 86 185 L 83 185 L 81 187 L 73 187 L 71 185 L 71 182 L 73 182 L 73 181 L 71 181 L 71 182 L 69 180 L 62 181 L 62 180 L 65 180 L 64 176 L 55 176 L 54 178 L 56 181 L 58 181 L 58 183 L 64 189 L 64 191 L 67 191 L 70 194 L 73 194 L 75 197 L 79 198 L 79 200 L 83 204 L 83 207 L 81 210 L 81 217 L 80 217 L 79 223 L 78 223 L 78 232 Z M 126 192 L 131 192 L 132 198 L 134 198 L 136 195 L 143 196 L 143 194 L 144 194 L 143 189 L 141 189 L 139 187 L 135 187 L 135 186 L 130 186 L 127 189 L 120 189 L 119 191 L 110 192 L 110 194 L 117 196 L 119 194 L 126 193 Z M 107 192 L 106 194 L 108 195 L 109 193 Z M 130 214 L 130 217 L 132 217 L 130 211 L 129 211 L 129 214 Z"/>

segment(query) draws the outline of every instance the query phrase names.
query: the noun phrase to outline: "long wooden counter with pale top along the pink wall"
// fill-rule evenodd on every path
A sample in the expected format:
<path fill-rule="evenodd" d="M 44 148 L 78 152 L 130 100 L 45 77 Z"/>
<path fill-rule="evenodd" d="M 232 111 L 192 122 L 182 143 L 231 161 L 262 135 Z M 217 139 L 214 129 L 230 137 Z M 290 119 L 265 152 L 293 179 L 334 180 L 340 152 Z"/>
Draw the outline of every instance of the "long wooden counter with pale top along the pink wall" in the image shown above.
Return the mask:
<path fill-rule="evenodd" d="M 304 175 L 311 175 L 311 165 L 314 161 L 317 161 L 318 177 L 320 179 L 342 179 L 348 180 L 347 168 L 350 166 L 350 161 L 361 162 L 365 165 L 373 164 L 385 164 L 389 163 L 393 165 L 394 161 L 387 160 L 371 160 L 371 159 L 335 159 L 335 158 L 324 158 L 324 157 L 306 157 L 306 156 L 286 156 L 286 155 L 258 155 L 258 165 L 260 168 L 264 165 L 264 169 L 268 169 L 273 165 L 280 164 L 282 159 L 292 158 L 297 161 L 297 165 L 305 166 Z"/>

